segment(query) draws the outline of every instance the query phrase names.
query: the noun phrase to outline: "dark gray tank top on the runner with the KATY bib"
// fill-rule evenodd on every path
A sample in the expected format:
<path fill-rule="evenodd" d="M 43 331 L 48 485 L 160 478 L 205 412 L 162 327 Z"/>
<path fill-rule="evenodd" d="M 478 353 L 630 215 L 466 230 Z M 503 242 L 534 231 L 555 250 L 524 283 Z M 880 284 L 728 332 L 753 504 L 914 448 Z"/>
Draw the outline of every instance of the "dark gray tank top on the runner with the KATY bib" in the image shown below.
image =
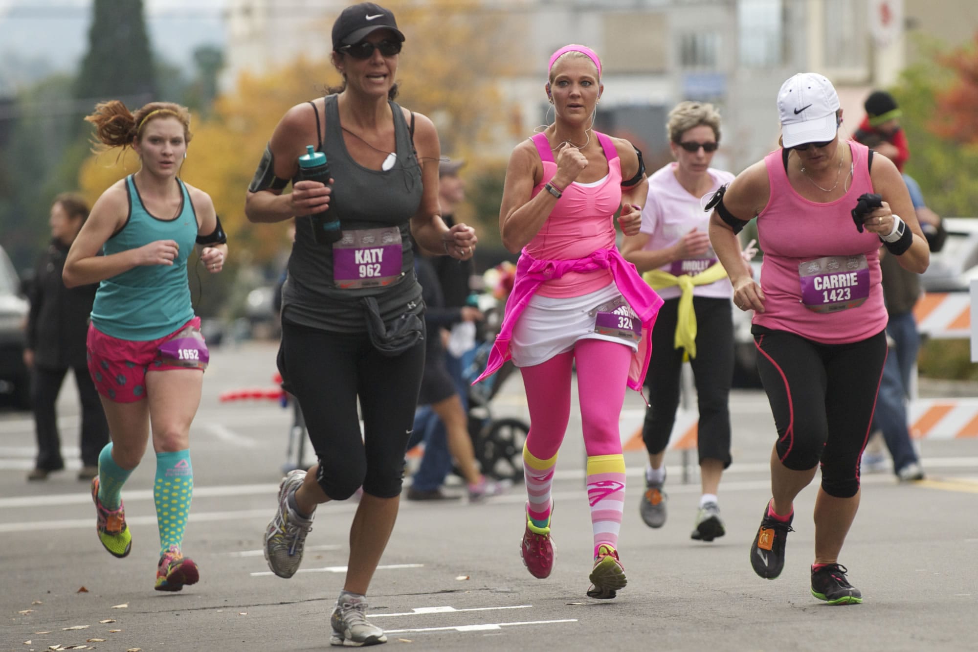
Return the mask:
<path fill-rule="evenodd" d="M 343 239 L 332 247 L 317 244 L 311 219 L 296 219 L 282 294 L 284 322 L 333 333 L 363 333 L 364 297 L 377 300 L 384 322 L 423 311 L 410 228 L 421 204 L 422 170 L 401 108 L 389 104 L 397 163 L 384 171 L 350 157 L 336 96 L 326 97 L 326 136 L 319 151 L 330 165 L 330 210 L 339 215 Z"/>

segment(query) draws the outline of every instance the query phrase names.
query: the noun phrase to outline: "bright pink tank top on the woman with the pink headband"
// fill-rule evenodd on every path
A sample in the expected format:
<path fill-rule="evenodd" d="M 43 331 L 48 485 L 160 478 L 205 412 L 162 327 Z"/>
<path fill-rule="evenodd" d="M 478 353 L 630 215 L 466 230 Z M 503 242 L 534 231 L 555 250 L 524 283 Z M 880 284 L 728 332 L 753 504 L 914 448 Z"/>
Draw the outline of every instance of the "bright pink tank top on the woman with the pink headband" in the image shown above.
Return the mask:
<path fill-rule="evenodd" d="M 574 182 L 563 190 L 563 196 L 556 201 L 547 221 L 524 248 L 526 253 L 538 260 L 585 258 L 599 249 L 612 249 L 615 246 L 612 217 L 621 207 L 621 161 L 611 139 L 597 131 L 594 134 L 608 162 L 607 176 L 597 185 Z M 536 197 L 544 184 L 554 178 L 556 162 L 544 134 L 538 133 L 532 140 L 544 165 L 543 178 L 533 188 L 532 197 Z M 600 290 L 611 282 L 611 272 L 607 269 L 567 272 L 558 279 L 543 283 L 537 294 L 556 298 L 580 297 Z"/>

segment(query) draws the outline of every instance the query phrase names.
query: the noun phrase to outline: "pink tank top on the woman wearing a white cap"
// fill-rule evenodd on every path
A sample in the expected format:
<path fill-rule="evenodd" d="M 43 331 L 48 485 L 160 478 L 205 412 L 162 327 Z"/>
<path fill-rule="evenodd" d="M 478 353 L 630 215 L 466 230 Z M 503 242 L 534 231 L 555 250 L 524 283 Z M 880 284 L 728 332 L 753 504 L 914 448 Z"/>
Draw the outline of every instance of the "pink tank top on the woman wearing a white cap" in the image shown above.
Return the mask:
<path fill-rule="evenodd" d="M 859 342 L 886 327 L 879 238 L 860 233 L 850 213 L 860 195 L 872 192 L 868 149 L 846 144 L 853 158 L 852 185 L 828 204 L 795 192 L 780 150 L 764 159 L 771 199 L 757 216 L 765 295 L 765 311 L 754 313 L 759 326 L 829 345 Z"/>

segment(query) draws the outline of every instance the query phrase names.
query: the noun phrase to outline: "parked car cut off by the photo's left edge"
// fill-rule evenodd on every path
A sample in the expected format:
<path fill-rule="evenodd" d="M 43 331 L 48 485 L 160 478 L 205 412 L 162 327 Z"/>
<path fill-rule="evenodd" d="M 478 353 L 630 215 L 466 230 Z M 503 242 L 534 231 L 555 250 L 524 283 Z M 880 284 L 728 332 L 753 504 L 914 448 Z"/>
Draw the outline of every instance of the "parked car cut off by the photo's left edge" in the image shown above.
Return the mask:
<path fill-rule="evenodd" d="M 0 392 L 21 409 L 30 408 L 30 375 L 23 364 L 28 308 L 17 271 L 0 248 Z"/>

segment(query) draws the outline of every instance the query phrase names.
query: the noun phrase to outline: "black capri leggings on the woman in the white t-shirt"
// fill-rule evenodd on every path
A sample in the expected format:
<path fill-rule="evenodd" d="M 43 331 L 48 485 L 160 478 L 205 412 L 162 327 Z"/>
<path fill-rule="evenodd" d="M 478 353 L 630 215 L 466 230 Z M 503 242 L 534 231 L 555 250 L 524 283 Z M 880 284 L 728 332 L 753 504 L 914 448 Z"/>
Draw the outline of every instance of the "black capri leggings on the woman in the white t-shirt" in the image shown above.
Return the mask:
<path fill-rule="evenodd" d="M 696 311 L 696 357 L 690 358 L 699 403 L 696 437 L 699 462 L 718 459 L 731 464 L 730 393 L 733 379 L 733 316 L 729 299 L 693 297 Z M 652 329 L 652 356 L 645 374 L 649 407 L 642 439 L 650 455 L 669 445 L 679 407 L 680 372 L 686 349 L 676 349 L 679 299 L 659 308 Z"/>

